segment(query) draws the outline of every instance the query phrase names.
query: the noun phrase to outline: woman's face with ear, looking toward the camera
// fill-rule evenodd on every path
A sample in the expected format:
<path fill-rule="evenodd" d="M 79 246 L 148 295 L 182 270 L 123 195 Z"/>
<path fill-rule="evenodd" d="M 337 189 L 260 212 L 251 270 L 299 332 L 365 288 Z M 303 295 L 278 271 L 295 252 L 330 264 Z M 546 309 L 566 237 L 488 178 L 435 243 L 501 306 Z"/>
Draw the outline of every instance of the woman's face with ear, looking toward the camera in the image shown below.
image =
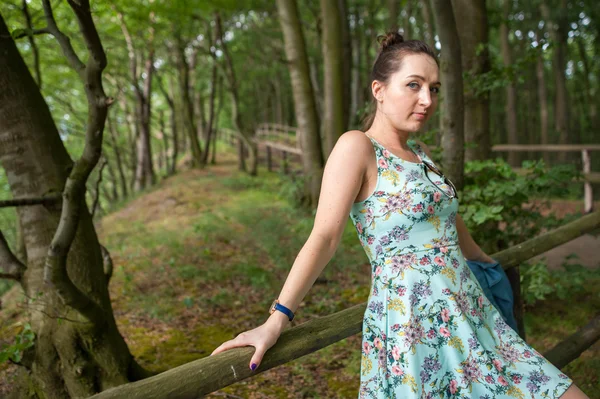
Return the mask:
<path fill-rule="evenodd" d="M 419 131 L 438 103 L 439 68 L 426 54 L 405 55 L 401 68 L 388 84 L 374 80 L 372 91 L 377 100 L 377 117 L 386 118 L 402 132 Z"/>

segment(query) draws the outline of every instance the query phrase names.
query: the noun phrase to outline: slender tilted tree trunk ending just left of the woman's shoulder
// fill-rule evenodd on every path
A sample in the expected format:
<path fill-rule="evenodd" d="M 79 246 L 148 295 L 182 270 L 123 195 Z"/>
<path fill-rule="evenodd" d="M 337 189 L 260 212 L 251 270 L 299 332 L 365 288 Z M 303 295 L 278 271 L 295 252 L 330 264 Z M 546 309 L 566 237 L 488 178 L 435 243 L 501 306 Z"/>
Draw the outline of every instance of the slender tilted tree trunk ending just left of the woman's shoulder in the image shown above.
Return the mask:
<path fill-rule="evenodd" d="M 317 107 L 310 82 L 306 44 L 296 2 L 277 0 L 277 10 L 292 79 L 294 109 L 302 147 L 302 167 L 305 176 L 304 203 L 308 207 L 316 207 L 323 177 L 323 155 L 319 138 Z"/>

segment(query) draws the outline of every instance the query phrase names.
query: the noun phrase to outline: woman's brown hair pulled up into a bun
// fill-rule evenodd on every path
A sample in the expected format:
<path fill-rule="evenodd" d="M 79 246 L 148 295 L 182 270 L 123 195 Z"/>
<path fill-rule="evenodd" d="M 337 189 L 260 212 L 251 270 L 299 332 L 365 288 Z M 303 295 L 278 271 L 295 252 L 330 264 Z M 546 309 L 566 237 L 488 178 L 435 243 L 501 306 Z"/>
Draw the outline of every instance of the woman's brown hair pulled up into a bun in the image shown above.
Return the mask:
<path fill-rule="evenodd" d="M 379 52 L 373 63 L 371 70 L 371 79 L 369 82 L 378 80 L 384 85 L 388 84 L 391 76 L 402 67 L 404 56 L 408 54 L 427 54 L 434 59 L 439 67 L 439 62 L 435 52 L 429 45 L 421 40 L 404 40 L 398 32 L 388 32 L 385 35 L 377 36 L 379 43 Z M 371 96 L 369 113 L 363 118 L 363 131 L 368 130 L 375 119 L 375 99 Z"/>

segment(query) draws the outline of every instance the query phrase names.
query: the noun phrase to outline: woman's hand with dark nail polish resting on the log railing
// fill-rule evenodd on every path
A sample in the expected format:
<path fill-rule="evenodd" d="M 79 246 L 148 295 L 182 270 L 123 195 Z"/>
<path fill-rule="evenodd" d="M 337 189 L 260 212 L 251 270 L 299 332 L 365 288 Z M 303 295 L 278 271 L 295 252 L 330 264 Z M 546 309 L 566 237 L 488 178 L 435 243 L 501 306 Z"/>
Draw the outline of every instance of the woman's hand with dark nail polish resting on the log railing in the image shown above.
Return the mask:
<path fill-rule="evenodd" d="M 276 312 L 280 313 L 280 312 Z M 283 315 L 283 314 L 282 314 Z M 285 316 L 285 315 L 284 315 Z M 254 351 L 254 355 L 250 360 L 250 370 L 254 371 L 262 361 L 265 352 L 275 345 L 277 339 L 281 335 L 281 331 L 285 324 L 277 324 L 274 320 L 275 318 L 271 317 L 267 322 L 263 325 L 258 326 L 252 330 L 244 331 L 229 341 L 223 342 L 220 346 L 218 346 L 211 354 L 216 355 L 217 353 L 225 352 L 226 350 L 232 348 L 238 348 L 242 346 L 254 346 L 256 350 Z"/>

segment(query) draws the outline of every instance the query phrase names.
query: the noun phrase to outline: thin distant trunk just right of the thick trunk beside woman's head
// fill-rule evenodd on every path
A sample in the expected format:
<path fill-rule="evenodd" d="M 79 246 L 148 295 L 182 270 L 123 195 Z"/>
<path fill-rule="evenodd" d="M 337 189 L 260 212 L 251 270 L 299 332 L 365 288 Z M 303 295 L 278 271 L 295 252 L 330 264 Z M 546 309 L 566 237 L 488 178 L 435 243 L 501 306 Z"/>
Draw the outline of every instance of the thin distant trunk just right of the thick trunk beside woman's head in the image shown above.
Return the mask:
<path fill-rule="evenodd" d="M 505 68 L 513 67 L 512 50 L 508 41 L 508 15 L 510 14 L 512 2 L 510 0 L 502 0 L 503 17 L 500 24 L 500 47 L 502 52 L 502 60 Z M 519 144 L 519 136 L 517 132 L 517 91 L 515 84 L 510 78 L 510 82 L 506 85 L 506 133 L 508 144 Z M 508 163 L 513 167 L 518 167 L 520 164 L 520 156 L 516 151 L 508 153 Z"/>

